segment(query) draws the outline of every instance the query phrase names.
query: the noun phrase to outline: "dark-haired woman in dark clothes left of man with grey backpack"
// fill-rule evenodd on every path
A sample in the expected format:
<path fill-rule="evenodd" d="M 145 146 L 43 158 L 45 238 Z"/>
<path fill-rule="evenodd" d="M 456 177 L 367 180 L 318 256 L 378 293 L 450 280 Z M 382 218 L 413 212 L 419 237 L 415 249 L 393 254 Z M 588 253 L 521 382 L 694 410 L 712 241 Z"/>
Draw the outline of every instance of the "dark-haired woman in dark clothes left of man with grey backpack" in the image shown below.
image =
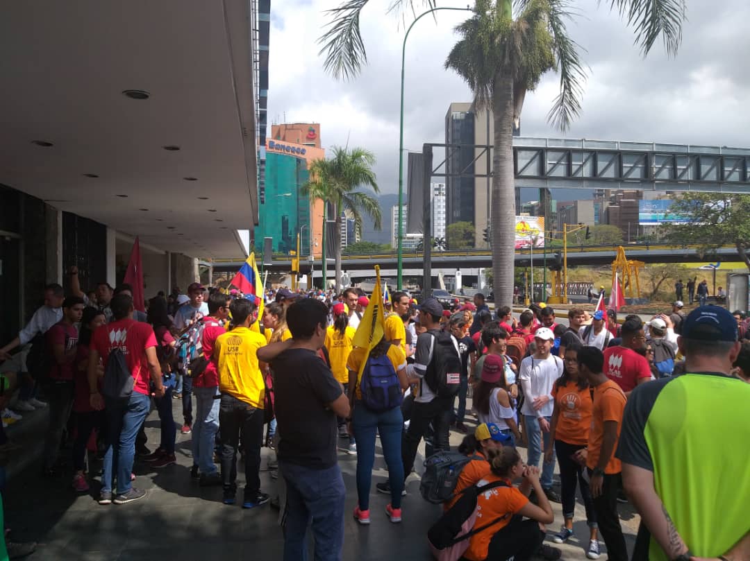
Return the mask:
<path fill-rule="evenodd" d="M 73 488 L 77 493 L 89 492 L 89 483 L 86 482 L 84 472 L 86 470 L 86 445 L 89 443 L 92 432 L 98 429 L 101 433 L 104 426 L 104 411 L 95 410 L 91 406 L 91 394 L 98 391 L 97 388 L 89 387 L 89 344 L 92 333 L 107 323 L 104 312 L 93 306 L 83 309 L 81 328 L 78 331 L 78 348 L 75 362 L 75 396 L 73 400 L 73 411 L 76 413 L 77 431 L 76 440 L 73 443 Z M 98 386 L 101 386 L 101 378 L 104 377 L 104 364 L 97 365 L 99 377 Z"/>

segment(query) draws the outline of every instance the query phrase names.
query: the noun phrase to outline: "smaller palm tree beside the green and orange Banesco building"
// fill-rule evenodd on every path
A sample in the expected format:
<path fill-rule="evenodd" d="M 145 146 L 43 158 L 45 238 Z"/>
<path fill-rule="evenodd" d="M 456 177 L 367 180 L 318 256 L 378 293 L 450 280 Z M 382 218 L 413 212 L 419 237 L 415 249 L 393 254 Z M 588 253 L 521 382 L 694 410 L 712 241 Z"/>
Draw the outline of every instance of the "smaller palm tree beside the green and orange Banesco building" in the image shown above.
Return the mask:
<path fill-rule="evenodd" d="M 330 160 L 314 160 L 310 165 L 310 181 L 302 186 L 302 193 L 312 199 L 322 199 L 331 204 L 335 216 L 334 255 L 336 261 L 336 290 L 341 289 L 341 222 L 346 213 L 354 219 L 357 234 L 362 234 L 362 213 L 368 214 L 380 230 L 382 216 L 377 198 L 358 187 L 371 187 L 380 192 L 372 166 L 374 155 L 362 148 L 334 147 Z M 325 225 L 324 237 L 325 237 Z M 324 241 L 325 243 L 325 241 Z M 323 265 L 325 267 L 325 264 Z"/>

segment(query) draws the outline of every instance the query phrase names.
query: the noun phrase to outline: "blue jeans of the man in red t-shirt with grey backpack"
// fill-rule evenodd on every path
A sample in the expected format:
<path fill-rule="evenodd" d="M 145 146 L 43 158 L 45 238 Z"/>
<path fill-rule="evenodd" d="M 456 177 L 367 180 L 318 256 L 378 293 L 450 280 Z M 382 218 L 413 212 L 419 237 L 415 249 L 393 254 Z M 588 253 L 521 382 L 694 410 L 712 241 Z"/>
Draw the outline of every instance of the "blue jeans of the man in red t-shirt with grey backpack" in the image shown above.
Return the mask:
<path fill-rule="evenodd" d="M 113 490 L 117 476 L 117 494 L 130 491 L 130 473 L 136 452 L 136 434 L 151 408 L 148 395 L 133 392 L 127 399 L 106 399 L 107 453 L 101 476 L 101 490 Z"/>

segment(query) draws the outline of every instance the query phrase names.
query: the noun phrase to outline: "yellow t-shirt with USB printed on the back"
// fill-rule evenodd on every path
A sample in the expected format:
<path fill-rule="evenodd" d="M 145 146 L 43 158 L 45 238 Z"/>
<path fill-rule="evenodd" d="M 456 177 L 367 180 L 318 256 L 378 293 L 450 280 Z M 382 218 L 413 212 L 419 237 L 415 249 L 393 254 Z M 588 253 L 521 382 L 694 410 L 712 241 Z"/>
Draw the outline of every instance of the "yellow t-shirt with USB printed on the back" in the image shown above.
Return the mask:
<path fill-rule="evenodd" d="M 266 345 L 266 336 L 247 327 L 222 333 L 214 344 L 219 371 L 219 390 L 256 409 L 263 409 L 266 382 L 260 372 L 257 351 Z"/>

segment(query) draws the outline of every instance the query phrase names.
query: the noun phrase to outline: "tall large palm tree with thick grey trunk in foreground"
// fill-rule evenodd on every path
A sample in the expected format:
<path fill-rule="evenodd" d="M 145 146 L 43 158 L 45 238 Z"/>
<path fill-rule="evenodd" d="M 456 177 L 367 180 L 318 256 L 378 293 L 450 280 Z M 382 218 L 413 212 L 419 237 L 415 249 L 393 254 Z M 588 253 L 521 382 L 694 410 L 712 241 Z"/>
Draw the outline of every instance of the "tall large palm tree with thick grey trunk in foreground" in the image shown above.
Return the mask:
<path fill-rule="evenodd" d="M 682 40 L 687 0 L 610 0 L 634 27 L 636 43 L 646 55 L 661 37 L 668 55 Z M 394 0 L 389 9 L 410 5 Z M 329 10 L 332 20 L 320 42 L 326 70 L 349 79 L 367 61 L 359 33 L 359 16 L 368 0 L 347 0 Z M 434 7 L 434 0 L 424 0 Z M 515 7 L 516 18 L 513 18 Z M 572 0 L 475 0 L 474 15 L 457 31 L 461 38 L 446 60 L 475 97 L 477 109 L 493 112 L 493 177 L 490 216 L 495 303 L 510 306 L 513 298 L 514 168 L 512 124 L 520 121 L 523 98 L 549 70 L 559 73 L 560 91 L 547 115 L 550 124 L 567 130 L 580 113 L 586 72 L 579 46 L 566 22 L 580 14 Z"/>

